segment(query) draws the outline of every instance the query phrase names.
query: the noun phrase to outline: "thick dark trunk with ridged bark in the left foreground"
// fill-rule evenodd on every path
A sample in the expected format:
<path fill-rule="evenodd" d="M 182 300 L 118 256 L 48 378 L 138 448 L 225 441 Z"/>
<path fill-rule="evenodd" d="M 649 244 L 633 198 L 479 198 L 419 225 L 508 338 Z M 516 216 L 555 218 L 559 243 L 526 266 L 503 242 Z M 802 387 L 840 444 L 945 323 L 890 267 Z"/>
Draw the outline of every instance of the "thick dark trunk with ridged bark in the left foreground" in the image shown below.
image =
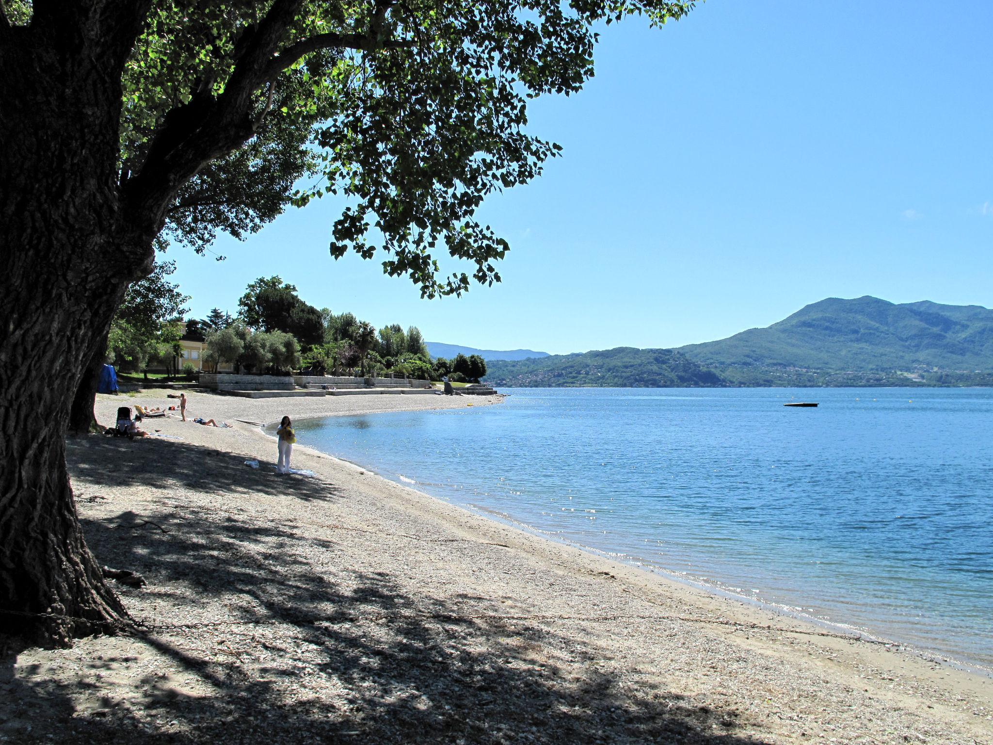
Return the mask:
<path fill-rule="evenodd" d="M 139 28 L 126 20 L 100 2 L 37 5 L 0 44 L 0 628 L 45 644 L 124 615 L 83 540 L 65 436 L 83 370 L 153 257 L 154 232 L 117 198 L 120 68 Z"/>

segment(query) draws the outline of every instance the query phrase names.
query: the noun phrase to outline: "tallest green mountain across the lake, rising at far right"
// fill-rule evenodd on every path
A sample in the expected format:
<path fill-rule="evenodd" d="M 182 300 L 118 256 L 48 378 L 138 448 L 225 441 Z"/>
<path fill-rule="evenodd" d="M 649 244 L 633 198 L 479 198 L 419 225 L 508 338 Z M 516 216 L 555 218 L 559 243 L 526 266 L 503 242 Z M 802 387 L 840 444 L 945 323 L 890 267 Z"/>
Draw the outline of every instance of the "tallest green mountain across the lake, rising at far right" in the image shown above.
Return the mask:
<path fill-rule="evenodd" d="M 678 350 L 718 368 L 836 372 L 993 370 L 993 310 L 929 301 L 828 298 L 765 329 Z"/>

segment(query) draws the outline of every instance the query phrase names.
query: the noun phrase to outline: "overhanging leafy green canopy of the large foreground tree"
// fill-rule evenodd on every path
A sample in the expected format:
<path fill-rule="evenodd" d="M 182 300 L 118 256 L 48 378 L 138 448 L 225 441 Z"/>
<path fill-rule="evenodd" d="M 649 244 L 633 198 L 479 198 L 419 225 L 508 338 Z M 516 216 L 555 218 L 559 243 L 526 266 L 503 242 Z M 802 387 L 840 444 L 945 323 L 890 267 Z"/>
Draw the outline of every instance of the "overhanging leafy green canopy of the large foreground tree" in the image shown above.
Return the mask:
<path fill-rule="evenodd" d="M 530 181 L 560 150 L 525 133 L 528 99 L 582 87 L 593 74 L 598 24 L 632 14 L 660 24 L 691 6 L 299 0 L 260 12 L 255 3 L 166 0 L 149 13 L 122 81 L 122 171 L 156 162 L 164 126 L 244 100 L 230 119 L 254 118 L 256 126 L 247 139 L 217 137 L 216 149 L 231 152 L 187 177 L 172 232 L 204 246 L 217 227 L 235 236 L 257 229 L 292 181 L 320 173 L 320 186 L 294 202 L 349 198 L 333 226 L 334 256 L 355 250 L 370 258 L 381 248 L 384 271 L 408 275 L 422 295 L 457 294 L 470 274 L 499 281 L 493 262 L 508 246 L 476 221 L 483 199 Z M 265 186 L 256 189 L 258 182 Z M 256 191 L 247 211 L 237 200 L 213 207 L 213 195 Z M 467 261 L 469 273 L 445 276 L 438 246 Z"/>

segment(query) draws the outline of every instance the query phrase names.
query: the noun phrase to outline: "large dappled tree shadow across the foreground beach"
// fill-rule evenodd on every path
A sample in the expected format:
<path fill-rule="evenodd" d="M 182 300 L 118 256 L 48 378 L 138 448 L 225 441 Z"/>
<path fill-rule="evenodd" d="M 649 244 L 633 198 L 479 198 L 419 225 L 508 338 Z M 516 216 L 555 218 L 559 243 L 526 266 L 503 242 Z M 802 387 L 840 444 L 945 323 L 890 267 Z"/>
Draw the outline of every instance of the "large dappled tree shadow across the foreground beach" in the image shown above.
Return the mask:
<path fill-rule="evenodd" d="M 230 470 L 242 475 L 236 488 L 265 481 Z M 761 742 L 736 734 L 735 711 L 604 666 L 604 650 L 582 633 L 404 589 L 402 577 L 350 568 L 338 540 L 304 539 L 292 525 L 212 516 L 168 533 L 84 527 L 101 560 L 146 574 L 149 590 L 123 592 L 140 620 L 169 599 L 172 617 L 155 620 L 187 628 L 153 628 L 83 666 L 126 671 L 138 650 L 179 682 L 149 673 L 130 684 L 130 698 L 129 686 L 111 687 L 100 708 L 84 709 L 72 686 L 14 678 L 8 656 L 0 691 L 6 685 L 30 713 L 33 735 L 53 735 L 43 741 Z"/>

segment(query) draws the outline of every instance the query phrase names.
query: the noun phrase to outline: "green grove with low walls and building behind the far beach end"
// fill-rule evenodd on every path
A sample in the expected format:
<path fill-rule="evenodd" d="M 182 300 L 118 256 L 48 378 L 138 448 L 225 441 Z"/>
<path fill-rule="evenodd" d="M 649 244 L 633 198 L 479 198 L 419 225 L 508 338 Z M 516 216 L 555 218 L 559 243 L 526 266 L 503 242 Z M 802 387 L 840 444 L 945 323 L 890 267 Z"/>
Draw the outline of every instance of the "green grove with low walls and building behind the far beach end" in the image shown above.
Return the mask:
<path fill-rule="evenodd" d="M 319 310 L 278 276 L 248 285 L 235 316 L 214 308 L 206 319 L 184 318 L 190 297 L 168 281 L 173 271 L 171 262 L 161 263 L 128 290 L 111 325 L 101 392 L 139 386 L 253 398 L 496 392 L 480 382 L 487 364 L 479 355 L 432 360 L 416 326 L 376 329 L 352 313 Z"/>

